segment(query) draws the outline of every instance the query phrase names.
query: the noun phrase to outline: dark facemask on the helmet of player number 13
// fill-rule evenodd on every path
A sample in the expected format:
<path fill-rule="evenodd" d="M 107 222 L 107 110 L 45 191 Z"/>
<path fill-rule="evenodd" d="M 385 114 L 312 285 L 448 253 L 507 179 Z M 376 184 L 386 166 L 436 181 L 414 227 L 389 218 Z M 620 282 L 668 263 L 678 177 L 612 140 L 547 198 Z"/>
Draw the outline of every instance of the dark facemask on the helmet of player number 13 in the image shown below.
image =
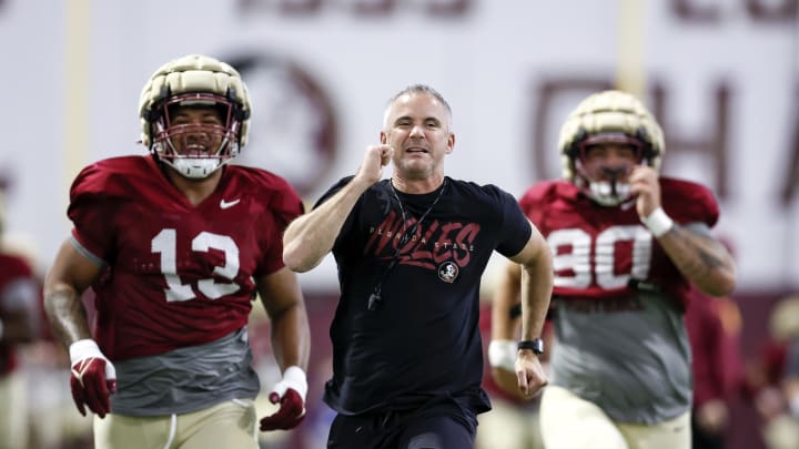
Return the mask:
<path fill-rule="evenodd" d="M 184 119 L 175 114 L 182 108 L 210 109 L 220 124 L 205 118 L 200 124 L 183 123 Z M 182 176 L 206 177 L 239 154 L 241 122 L 230 100 L 210 93 L 186 93 L 169 98 L 153 111 L 156 119 L 152 121 L 152 151 Z"/>

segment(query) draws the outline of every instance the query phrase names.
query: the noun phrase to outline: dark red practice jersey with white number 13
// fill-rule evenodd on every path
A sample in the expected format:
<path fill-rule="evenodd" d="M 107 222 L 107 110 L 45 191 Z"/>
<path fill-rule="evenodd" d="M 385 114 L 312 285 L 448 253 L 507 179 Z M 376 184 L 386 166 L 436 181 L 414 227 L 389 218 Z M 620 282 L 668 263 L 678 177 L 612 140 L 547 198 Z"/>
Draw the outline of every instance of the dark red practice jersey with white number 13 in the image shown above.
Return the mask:
<path fill-rule="evenodd" d="M 302 214 L 296 192 L 270 172 L 226 165 L 194 206 L 152 156 L 85 167 L 69 217 L 82 251 L 107 264 L 93 285 L 95 339 L 111 360 L 221 338 L 247 323 L 253 277 L 283 265 L 282 235 Z"/>

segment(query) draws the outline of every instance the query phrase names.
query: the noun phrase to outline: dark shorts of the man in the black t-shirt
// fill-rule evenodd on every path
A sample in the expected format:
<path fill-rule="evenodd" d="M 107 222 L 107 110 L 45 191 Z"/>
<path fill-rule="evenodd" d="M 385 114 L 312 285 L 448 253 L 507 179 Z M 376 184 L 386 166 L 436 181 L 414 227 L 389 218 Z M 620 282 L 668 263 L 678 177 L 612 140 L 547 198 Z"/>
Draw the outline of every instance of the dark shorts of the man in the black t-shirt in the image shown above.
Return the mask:
<path fill-rule="evenodd" d="M 477 418 L 455 401 L 417 410 L 336 415 L 327 449 L 468 449 Z"/>

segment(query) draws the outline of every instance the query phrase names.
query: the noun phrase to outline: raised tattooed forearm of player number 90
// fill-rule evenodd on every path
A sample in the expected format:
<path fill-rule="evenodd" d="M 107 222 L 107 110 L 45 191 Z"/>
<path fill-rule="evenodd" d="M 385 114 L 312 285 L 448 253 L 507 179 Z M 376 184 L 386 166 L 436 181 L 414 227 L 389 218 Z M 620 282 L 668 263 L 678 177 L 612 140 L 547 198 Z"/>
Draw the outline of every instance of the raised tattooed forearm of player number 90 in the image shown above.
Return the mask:
<path fill-rule="evenodd" d="M 735 288 L 735 262 L 715 238 L 675 225 L 658 238 L 658 243 L 677 269 L 702 293 L 725 296 Z"/>

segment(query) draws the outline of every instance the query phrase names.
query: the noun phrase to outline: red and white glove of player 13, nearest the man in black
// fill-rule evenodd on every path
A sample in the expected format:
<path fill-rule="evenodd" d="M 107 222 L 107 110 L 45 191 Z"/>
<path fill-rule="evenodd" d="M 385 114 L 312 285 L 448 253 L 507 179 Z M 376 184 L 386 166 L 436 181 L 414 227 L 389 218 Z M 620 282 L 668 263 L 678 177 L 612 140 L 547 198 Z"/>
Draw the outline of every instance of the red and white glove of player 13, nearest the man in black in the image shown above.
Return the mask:
<path fill-rule="evenodd" d="M 307 379 L 300 367 L 291 366 L 283 373 L 283 380 L 275 384 L 270 392 L 270 402 L 280 409 L 261 420 L 261 431 L 293 429 L 305 418 L 305 395 Z"/>

